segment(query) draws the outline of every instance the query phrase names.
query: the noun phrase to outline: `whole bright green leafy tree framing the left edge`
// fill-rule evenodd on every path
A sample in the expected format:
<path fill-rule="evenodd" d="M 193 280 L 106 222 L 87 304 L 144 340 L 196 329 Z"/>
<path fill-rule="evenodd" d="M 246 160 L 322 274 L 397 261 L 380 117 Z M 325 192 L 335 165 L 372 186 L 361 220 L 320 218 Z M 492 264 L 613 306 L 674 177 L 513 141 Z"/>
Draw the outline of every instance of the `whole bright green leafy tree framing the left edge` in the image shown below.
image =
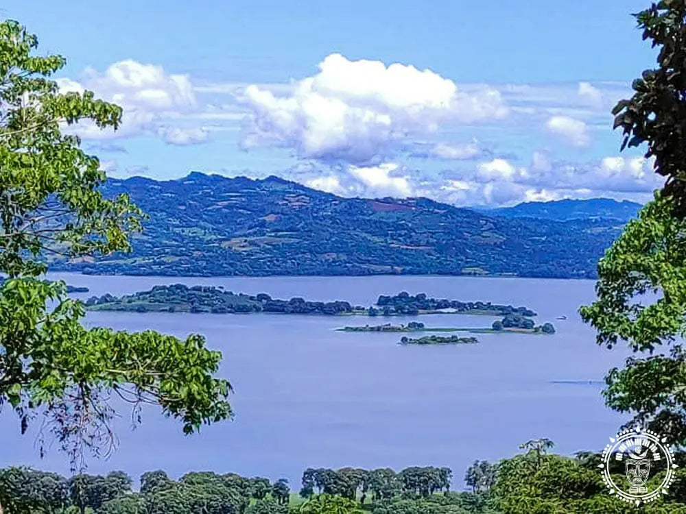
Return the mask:
<path fill-rule="evenodd" d="M 127 251 L 142 213 L 126 196 L 103 197 L 99 160 L 64 130 L 116 129 L 121 109 L 87 91 L 61 94 L 49 77 L 64 58 L 34 56 L 37 44 L 19 23 L 0 23 L 0 273 L 9 277 L 0 286 L 0 406 L 16 411 L 22 432 L 47 417 L 76 463 L 84 448 L 110 448 L 110 397 L 157 404 L 190 433 L 231 416 L 230 384 L 213 378 L 221 355 L 201 336 L 88 330 L 64 284 L 41 280 L 48 254 Z"/>

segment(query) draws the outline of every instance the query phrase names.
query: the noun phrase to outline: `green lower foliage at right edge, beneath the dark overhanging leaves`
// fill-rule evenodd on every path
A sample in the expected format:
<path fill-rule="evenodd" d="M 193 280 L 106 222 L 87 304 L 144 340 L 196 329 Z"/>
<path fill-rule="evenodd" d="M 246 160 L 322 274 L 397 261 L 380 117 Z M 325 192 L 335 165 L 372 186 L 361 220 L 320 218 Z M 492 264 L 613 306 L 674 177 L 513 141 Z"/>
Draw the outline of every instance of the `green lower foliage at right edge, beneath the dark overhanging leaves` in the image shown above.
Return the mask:
<path fill-rule="evenodd" d="M 599 345 L 626 341 L 638 354 L 608 372 L 606 404 L 679 445 L 686 443 L 685 354 L 678 341 L 686 327 L 685 229 L 667 199 L 648 204 L 600 260 L 598 299 L 580 308 L 598 330 Z"/>

